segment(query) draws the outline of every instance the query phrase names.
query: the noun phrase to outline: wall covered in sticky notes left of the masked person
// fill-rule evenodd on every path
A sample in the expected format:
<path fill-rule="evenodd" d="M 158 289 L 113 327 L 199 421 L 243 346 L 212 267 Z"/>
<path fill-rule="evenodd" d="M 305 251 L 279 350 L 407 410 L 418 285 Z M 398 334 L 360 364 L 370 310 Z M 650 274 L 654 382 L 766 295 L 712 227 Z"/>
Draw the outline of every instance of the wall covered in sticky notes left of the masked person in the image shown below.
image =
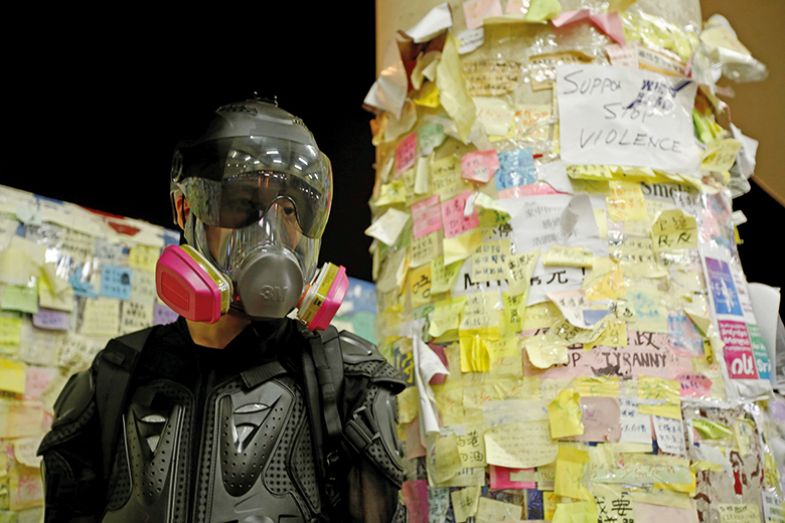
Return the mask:
<path fill-rule="evenodd" d="M 179 234 L 0 186 L 0 520 L 39 521 L 35 455 L 68 377 L 109 338 L 174 321 L 155 262 Z"/>

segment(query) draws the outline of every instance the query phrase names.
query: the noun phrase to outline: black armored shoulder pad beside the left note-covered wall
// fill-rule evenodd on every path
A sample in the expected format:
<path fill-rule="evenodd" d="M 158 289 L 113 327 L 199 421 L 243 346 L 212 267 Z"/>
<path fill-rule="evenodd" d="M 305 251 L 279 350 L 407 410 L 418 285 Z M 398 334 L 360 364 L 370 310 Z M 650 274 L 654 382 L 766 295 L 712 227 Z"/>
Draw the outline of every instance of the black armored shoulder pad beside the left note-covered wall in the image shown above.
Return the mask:
<path fill-rule="evenodd" d="M 71 376 L 54 404 L 54 421 L 38 454 L 78 436 L 95 415 L 95 386 L 90 369 Z"/>

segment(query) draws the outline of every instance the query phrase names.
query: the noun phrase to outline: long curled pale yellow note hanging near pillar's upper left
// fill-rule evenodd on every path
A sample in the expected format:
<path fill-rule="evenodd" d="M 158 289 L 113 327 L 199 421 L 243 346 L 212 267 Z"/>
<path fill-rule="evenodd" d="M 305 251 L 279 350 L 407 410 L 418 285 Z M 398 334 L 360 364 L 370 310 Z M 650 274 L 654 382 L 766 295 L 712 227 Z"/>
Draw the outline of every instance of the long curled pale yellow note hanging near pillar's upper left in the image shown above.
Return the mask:
<path fill-rule="evenodd" d="M 442 106 L 455 122 L 461 140 L 466 143 L 474 124 L 476 110 L 464 82 L 458 46 L 451 35 L 447 35 L 442 57 L 436 68 L 436 86 L 441 93 Z"/>

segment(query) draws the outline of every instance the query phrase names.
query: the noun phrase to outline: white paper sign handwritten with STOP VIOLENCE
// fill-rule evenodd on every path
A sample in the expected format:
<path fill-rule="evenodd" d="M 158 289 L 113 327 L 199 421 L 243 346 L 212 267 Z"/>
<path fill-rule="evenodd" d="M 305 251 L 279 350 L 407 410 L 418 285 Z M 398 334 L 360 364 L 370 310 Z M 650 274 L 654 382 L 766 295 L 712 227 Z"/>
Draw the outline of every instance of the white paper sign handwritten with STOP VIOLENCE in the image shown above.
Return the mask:
<path fill-rule="evenodd" d="M 557 66 L 562 160 L 694 171 L 696 88 L 684 78 L 629 67 Z"/>

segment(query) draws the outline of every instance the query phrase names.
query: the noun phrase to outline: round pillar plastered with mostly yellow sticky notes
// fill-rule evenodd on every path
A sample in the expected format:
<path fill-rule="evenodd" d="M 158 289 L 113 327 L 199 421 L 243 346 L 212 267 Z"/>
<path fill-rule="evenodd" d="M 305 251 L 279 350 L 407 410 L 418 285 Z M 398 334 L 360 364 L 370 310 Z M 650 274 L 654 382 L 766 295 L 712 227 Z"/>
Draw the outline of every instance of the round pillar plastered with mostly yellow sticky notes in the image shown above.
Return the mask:
<path fill-rule="evenodd" d="M 693 0 L 413 4 L 379 7 L 411 45 L 365 100 L 374 223 L 410 218 L 371 248 L 409 521 L 783 521 L 754 152 L 709 72 L 762 64 Z"/>

